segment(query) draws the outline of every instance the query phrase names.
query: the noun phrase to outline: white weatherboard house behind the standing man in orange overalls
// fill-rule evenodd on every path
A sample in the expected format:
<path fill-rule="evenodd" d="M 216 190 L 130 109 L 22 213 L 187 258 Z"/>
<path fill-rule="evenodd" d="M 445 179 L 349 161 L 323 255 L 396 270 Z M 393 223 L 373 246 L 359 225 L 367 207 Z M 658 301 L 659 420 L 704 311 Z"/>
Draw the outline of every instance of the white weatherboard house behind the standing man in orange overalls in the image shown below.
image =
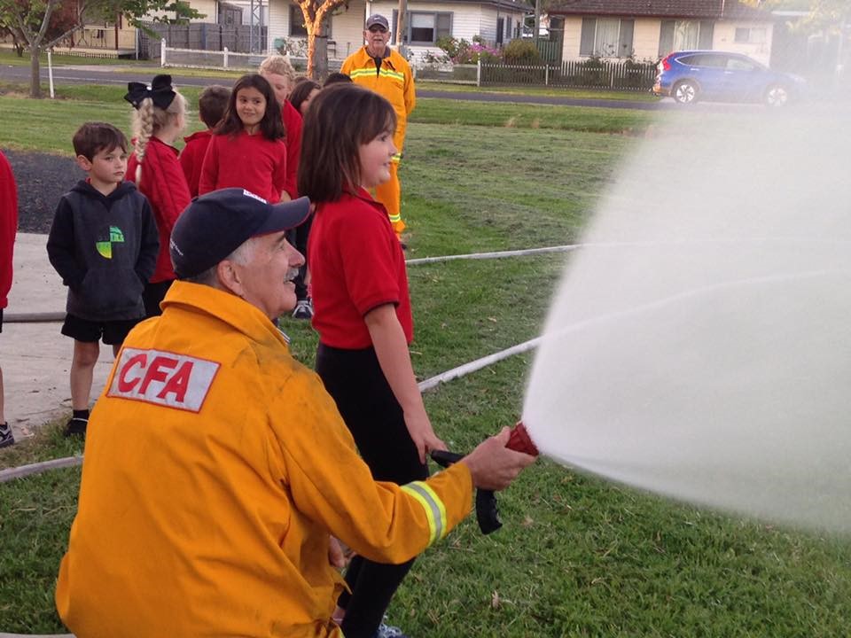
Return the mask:
<path fill-rule="evenodd" d="M 329 23 L 328 57 L 344 59 L 363 46 L 363 23 L 373 13 L 390 20 L 395 42 L 398 7 L 391 0 L 351 0 L 347 7 L 341 6 Z M 488 43 L 501 45 L 519 37 L 528 10 L 527 4 L 515 0 L 409 0 L 403 39 L 414 64 L 426 51 L 441 54 L 434 44 L 444 35 L 468 42 L 480 35 Z M 270 0 L 269 49 L 287 44 L 291 51 L 298 51 L 306 37 L 299 6 L 290 0 Z"/>

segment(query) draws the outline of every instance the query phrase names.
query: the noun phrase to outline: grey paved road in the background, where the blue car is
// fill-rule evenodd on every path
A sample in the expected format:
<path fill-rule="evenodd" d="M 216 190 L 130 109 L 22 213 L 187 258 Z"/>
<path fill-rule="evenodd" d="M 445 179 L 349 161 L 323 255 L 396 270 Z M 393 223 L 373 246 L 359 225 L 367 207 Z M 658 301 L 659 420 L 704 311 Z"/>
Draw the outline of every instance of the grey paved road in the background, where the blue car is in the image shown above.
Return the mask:
<path fill-rule="evenodd" d="M 42 81 L 48 82 L 47 68 L 42 66 Z M 53 82 L 56 84 L 126 84 L 127 82 L 150 82 L 154 74 L 160 73 L 159 67 L 121 67 L 121 66 L 59 66 L 53 69 Z M 9 82 L 29 82 L 28 66 L 0 66 L 0 78 Z M 175 74 L 175 83 L 189 86 L 207 86 L 215 82 L 232 84 L 232 76 L 191 77 Z M 474 102 L 513 102 L 522 104 L 597 106 L 605 108 L 641 109 L 645 111 L 660 108 L 677 108 L 673 102 L 630 102 L 607 99 L 577 99 L 575 97 L 513 95 L 507 93 L 479 93 L 467 91 L 417 90 L 417 97 L 442 97 L 444 99 L 470 100 Z"/>

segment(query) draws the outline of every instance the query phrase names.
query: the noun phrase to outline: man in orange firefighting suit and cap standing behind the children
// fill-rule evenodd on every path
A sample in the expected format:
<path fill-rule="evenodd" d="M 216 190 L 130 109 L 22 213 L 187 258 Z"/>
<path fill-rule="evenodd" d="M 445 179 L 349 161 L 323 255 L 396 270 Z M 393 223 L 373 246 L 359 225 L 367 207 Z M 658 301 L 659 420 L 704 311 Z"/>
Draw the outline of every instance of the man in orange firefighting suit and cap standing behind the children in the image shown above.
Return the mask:
<path fill-rule="evenodd" d="M 346 58 L 340 72 L 347 74 L 355 84 L 386 97 L 396 112 L 393 144 L 398 152 L 390 166 L 390 180 L 375 188 L 375 198 L 387 209 L 393 230 L 397 237 L 401 237 L 405 222 L 402 222 L 402 185 L 399 183 L 398 171 L 408 116 L 417 104 L 414 74 L 408 61 L 398 51 L 387 46 L 390 42 L 390 25 L 383 15 L 376 13 L 366 19 L 363 39 L 366 40 L 366 46 Z"/>

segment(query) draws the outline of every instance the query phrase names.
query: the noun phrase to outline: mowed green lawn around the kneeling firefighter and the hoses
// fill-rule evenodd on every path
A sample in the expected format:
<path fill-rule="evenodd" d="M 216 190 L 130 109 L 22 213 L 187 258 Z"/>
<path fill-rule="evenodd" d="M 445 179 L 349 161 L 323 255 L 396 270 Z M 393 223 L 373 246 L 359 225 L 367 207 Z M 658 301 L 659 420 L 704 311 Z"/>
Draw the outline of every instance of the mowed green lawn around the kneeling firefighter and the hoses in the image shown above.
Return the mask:
<path fill-rule="evenodd" d="M 480 106 L 482 117 L 488 108 Z M 574 241 L 636 144 L 612 133 L 505 127 L 500 117 L 493 126 L 411 125 L 402 162 L 410 258 Z M 535 337 L 568 259 L 410 266 L 418 377 Z M 284 328 L 312 365 L 313 331 L 289 319 Z M 517 420 L 533 356 L 426 393 L 450 447 L 470 449 Z M 73 454 L 55 428 L 0 451 L 0 467 Z M 0 630 L 62 630 L 52 587 L 79 475 L 0 486 Z M 545 460 L 498 498 L 503 529 L 482 536 L 468 519 L 428 549 L 394 598 L 391 623 L 430 638 L 847 635 L 847 539 L 696 510 Z"/>

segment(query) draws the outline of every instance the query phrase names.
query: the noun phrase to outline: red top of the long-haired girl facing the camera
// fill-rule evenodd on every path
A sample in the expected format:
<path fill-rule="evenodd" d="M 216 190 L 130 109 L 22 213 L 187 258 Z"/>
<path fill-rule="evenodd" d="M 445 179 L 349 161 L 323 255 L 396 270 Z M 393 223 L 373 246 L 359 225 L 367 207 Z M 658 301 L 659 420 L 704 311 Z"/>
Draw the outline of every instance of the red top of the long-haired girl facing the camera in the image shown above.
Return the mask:
<path fill-rule="evenodd" d="M 223 188 L 241 188 L 272 204 L 281 200 L 286 186 L 286 144 L 262 133 L 214 135 L 207 146 L 199 195 Z"/>

